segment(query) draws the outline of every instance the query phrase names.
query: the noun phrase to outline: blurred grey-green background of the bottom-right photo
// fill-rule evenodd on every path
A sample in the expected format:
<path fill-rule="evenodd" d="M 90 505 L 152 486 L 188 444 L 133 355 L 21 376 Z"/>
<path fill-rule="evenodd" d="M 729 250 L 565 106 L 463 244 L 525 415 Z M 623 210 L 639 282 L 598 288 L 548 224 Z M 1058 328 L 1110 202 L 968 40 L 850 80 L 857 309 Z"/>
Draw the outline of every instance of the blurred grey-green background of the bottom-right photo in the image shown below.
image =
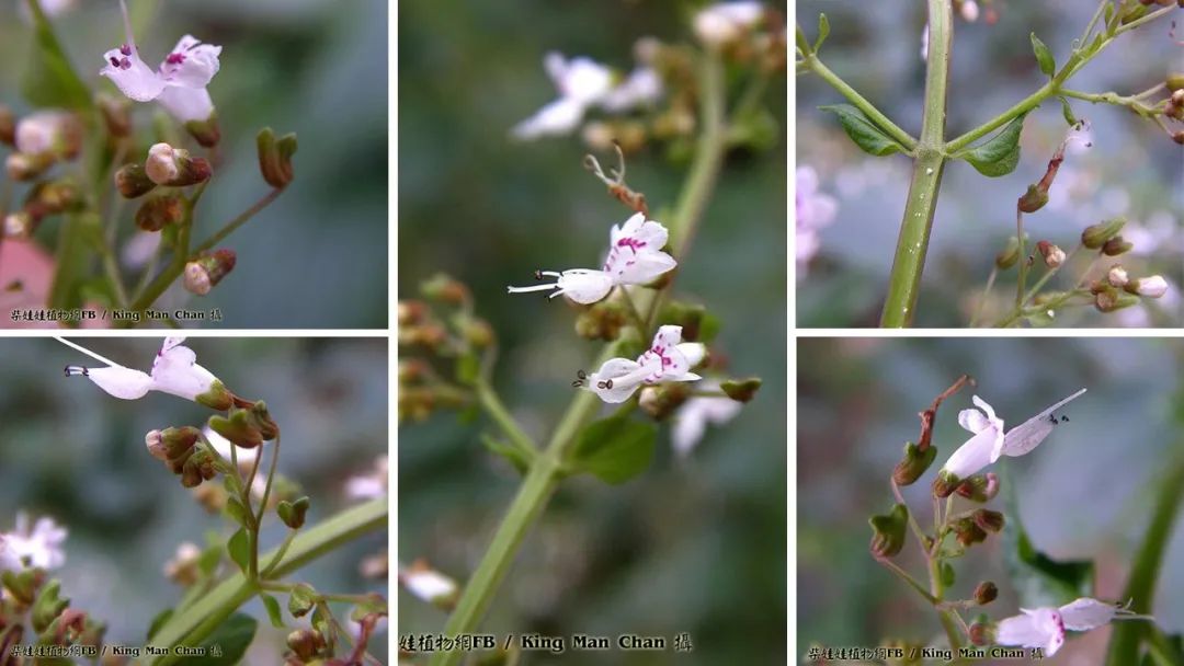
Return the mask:
<path fill-rule="evenodd" d="M 969 438 L 958 412 L 971 395 L 1014 427 L 1086 387 L 1058 410 L 1069 416 L 1043 444 L 992 470 L 1004 487 L 989 506 L 1004 510 L 1008 485 L 1035 548 L 1054 560 L 1094 560 L 1096 596 L 1117 599 L 1146 530 L 1160 471 L 1182 451 L 1180 341 L 1122 338 L 873 340 L 798 343 L 798 647 L 876 646 L 902 638 L 944 645 L 935 615 L 868 552 L 868 517 L 893 504 L 888 478 L 918 412 L 967 373 L 978 381 L 942 403 L 934 466 L 903 489 L 918 520 L 931 520 L 929 484 Z M 1002 478 L 1002 477 L 1000 477 Z M 895 562 L 922 571 L 909 537 Z M 955 563 L 953 599 L 982 580 L 999 597 L 983 610 L 1017 614 L 1002 537 L 989 537 Z M 1184 629 L 1184 525 L 1177 524 L 1157 586 L 1153 614 L 1167 634 Z M 1125 600 L 1124 600 L 1125 601 Z M 1099 664 L 1109 628 L 1070 636 L 1048 664 Z"/>

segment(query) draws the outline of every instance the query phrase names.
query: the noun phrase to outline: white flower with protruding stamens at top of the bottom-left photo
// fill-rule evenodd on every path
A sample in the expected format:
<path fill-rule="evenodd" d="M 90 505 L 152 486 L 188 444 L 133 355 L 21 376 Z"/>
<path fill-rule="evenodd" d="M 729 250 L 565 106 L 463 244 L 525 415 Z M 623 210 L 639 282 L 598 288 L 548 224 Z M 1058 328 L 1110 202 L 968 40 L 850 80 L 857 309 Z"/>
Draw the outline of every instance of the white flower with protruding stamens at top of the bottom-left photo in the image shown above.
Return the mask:
<path fill-rule="evenodd" d="M 58 342 L 72 347 L 83 354 L 107 363 L 105 368 L 86 368 L 67 366 L 66 376 L 82 375 L 95 382 L 98 388 L 123 400 L 143 397 L 149 390 L 159 390 L 193 400 L 212 409 L 230 409 L 233 395 L 226 390 L 221 381 L 197 363 L 197 354 L 182 345 L 184 337 L 166 337 L 156 358 L 152 364 L 152 375 L 124 368 L 89 349 L 67 340 Z"/>

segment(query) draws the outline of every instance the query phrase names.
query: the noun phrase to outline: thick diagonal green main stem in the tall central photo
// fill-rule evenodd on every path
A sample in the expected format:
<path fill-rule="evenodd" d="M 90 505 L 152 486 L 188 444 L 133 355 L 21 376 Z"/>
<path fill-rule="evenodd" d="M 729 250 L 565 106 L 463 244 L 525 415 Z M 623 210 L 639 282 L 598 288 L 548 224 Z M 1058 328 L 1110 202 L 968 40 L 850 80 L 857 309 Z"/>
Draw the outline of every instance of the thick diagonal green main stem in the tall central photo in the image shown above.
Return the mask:
<path fill-rule="evenodd" d="M 708 53 L 702 63 L 703 95 L 701 98 L 702 128 L 687 183 L 678 196 L 675 215 L 670 220 L 669 244 L 675 257 L 683 258 L 694 238 L 695 227 L 702 216 L 710 192 L 723 161 L 726 150 L 723 118 L 723 67 L 718 53 Z M 656 310 L 661 296 L 655 296 L 649 305 L 650 313 Z M 599 366 L 613 357 L 617 343 L 607 344 L 600 353 L 596 364 Z M 530 528 L 542 515 L 552 492 L 564 473 L 568 450 L 575 442 L 580 428 L 596 415 L 600 406 L 599 399 L 588 390 L 580 390 L 572 399 L 562 419 L 555 427 L 546 450 L 534 458 L 529 472 L 522 480 L 517 494 L 510 503 L 485 555 L 477 564 L 468 584 L 465 584 L 456 609 L 444 626 L 444 635 L 456 636 L 472 633 L 494 595 L 504 580 L 509 567 L 517 555 L 522 541 Z M 461 651 L 437 652 L 432 655 L 433 666 L 455 666 L 464 658 Z"/>

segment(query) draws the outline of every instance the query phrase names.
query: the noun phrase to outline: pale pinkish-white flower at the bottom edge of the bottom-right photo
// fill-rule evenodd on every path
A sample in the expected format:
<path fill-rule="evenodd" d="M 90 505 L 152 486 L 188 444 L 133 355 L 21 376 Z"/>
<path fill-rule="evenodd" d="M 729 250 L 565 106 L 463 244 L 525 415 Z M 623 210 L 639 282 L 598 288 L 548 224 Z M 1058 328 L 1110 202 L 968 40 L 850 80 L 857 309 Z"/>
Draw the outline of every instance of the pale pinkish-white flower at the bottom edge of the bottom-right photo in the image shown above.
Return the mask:
<path fill-rule="evenodd" d="M 1088 632 L 1113 620 L 1151 620 L 1122 606 L 1081 597 L 1060 608 L 1019 609 L 1023 614 L 1000 620 L 995 641 L 999 645 L 1040 647 L 1053 657 L 1064 645 L 1064 631 Z"/>

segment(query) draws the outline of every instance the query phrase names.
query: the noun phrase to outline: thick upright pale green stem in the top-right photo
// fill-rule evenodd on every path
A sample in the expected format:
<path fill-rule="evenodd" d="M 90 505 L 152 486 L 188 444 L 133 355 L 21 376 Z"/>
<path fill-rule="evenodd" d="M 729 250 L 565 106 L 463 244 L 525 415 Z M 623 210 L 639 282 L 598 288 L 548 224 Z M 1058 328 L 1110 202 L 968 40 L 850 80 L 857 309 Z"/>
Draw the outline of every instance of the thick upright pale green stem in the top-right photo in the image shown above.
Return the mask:
<path fill-rule="evenodd" d="M 925 115 L 921 140 L 913 161 L 913 180 L 905 203 L 905 219 L 896 241 L 896 258 L 888 278 L 880 325 L 903 328 L 913 323 L 916 298 L 929 248 L 933 212 L 938 206 L 938 188 L 945 170 L 942 142 L 946 130 L 946 89 L 950 84 L 950 49 L 953 44 L 953 8 L 948 0 L 928 0 L 929 56 L 925 77 Z"/>

